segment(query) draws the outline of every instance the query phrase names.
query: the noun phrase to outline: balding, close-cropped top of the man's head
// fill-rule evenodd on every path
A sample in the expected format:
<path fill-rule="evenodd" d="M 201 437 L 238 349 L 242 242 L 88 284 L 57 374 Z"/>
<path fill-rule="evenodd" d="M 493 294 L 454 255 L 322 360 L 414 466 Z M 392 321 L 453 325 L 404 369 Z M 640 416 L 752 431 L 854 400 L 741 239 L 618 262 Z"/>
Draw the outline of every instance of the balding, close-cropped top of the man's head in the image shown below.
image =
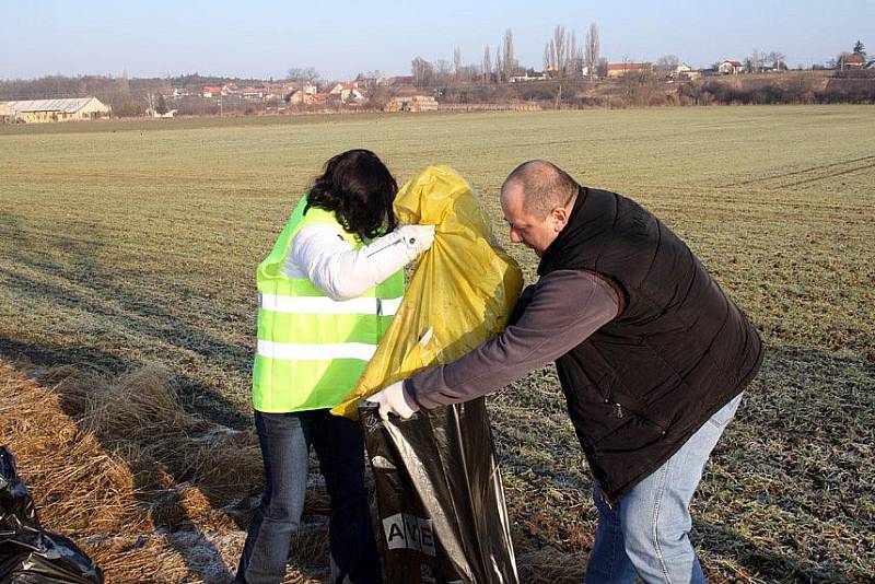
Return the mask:
<path fill-rule="evenodd" d="M 556 164 L 530 160 L 508 175 L 501 194 L 506 197 L 509 190 L 522 192 L 525 212 L 544 219 L 557 207 L 568 205 L 580 188 L 576 180 Z"/>

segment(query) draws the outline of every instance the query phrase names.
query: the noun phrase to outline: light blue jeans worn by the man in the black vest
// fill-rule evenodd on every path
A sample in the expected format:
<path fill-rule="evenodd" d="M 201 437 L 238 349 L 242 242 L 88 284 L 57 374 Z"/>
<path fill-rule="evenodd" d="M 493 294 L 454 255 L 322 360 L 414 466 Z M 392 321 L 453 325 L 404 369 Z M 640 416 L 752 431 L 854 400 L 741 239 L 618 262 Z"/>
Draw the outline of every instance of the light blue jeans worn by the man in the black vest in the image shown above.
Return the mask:
<path fill-rule="evenodd" d="M 637 577 L 646 583 L 705 582 L 688 536 L 689 504 L 740 400 L 738 395 L 726 404 L 665 464 L 610 504 L 595 486 L 598 528 L 586 584 L 626 584 Z"/>

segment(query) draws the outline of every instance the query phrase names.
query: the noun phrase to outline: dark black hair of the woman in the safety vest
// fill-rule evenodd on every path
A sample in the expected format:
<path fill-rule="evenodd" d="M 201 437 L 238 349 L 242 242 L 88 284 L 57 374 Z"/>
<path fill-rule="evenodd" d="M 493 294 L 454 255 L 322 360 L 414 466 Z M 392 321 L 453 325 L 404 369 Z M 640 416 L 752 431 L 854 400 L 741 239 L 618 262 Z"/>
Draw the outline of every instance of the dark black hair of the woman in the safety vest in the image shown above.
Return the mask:
<path fill-rule="evenodd" d="M 393 231 L 398 222 L 392 210 L 398 184 L 386 165 L 370 150 L 348 150 L 325 163 L 307 194 L 311 207 L 332 211 L 338 222 L 360 238 Z"/>

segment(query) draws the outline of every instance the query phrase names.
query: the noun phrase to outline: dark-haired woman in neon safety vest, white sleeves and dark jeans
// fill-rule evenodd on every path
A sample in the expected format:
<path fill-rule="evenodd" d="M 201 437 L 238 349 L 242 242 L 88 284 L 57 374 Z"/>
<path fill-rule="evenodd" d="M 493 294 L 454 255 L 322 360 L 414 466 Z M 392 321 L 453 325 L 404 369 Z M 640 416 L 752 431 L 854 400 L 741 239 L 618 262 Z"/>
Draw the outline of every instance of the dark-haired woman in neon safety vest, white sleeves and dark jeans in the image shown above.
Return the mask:
<path fill-rule="evenodd" d="M 311 444 L 330 498 L 331 582 L 382 582 L 358 422 L 332 416 L 355 385 L 404 295 L 402 268 L 433 225 L 397 226 L 398 187 L 380 159 L 330 159 L 258 266 L 255 427 L 266 488 L 236 581 L 281 582 L 298 530 Z"/>

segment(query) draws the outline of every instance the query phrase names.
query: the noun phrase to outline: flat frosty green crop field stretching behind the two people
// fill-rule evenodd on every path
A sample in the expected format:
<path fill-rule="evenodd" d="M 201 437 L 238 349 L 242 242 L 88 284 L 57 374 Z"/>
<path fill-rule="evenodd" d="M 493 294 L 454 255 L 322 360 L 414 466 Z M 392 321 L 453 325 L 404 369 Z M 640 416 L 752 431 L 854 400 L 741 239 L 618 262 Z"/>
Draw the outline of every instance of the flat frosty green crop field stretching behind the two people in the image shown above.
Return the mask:
<path fill-rule="evenodd" d="M 254 269 L 330 155 L 498 188 L 544 157 L 679 233 L 768 354 L 695 499 L 716 581 L 875 580 L 875 108 L 779 106 L 0 126 L 0 358 L 160 364 L 249 423 Z M 527 280 L 536 258 L 510 246 Z M 23 365 L 22 365 L 23 366 Z M 578 582 L 596 513 L 556 373 L 490 398 L 517 554 Z M 556 571 L 552 572 L 557 574 Z M 528 573 L 527 581 L 535 581 Z"/>

